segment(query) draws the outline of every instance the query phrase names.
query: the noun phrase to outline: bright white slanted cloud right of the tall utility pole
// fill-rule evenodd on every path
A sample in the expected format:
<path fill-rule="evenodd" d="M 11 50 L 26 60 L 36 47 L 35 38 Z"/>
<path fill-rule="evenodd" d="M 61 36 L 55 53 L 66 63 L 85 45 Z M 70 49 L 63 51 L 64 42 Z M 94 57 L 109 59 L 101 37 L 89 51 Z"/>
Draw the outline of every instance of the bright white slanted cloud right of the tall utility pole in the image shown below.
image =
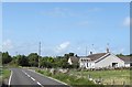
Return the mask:
<path fill-rule="evenodd" d="M 64 42 L 56 47 L 56 52 L 62 53 L 65 50 L 67 50 L 69 45 L 70 45 L 70 42 Z"/>

